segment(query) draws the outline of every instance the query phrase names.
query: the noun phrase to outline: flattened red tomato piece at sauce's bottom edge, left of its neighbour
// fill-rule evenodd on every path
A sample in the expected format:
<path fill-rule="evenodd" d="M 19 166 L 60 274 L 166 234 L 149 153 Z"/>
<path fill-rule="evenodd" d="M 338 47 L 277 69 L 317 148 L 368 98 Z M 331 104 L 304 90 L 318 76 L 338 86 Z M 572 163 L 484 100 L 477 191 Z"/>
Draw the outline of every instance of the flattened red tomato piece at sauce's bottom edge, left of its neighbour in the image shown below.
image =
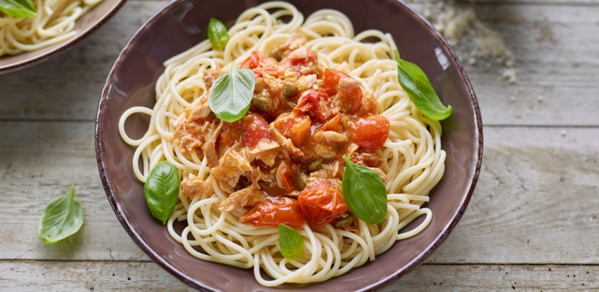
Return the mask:
<path fill-rule="evenodd" d="M 253 227 L 278 227 L 279 223 L 293 228 L 301 228 L 305 219 L 300 204 L 286 197 L 267 198 L 256 204 L 239 218 L 240 222 L 249 222 Z"/>

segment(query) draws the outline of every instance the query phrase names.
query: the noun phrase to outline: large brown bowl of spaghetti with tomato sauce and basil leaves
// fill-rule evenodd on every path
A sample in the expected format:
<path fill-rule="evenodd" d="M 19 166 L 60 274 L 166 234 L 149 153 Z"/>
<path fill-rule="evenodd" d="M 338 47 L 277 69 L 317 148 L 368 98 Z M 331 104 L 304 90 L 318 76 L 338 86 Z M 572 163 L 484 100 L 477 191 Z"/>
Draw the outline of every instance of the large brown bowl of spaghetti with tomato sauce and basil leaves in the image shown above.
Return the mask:
<path fill-rule="evenodd" d="M 203 291 L 384 287 L 457 224 L 482 147 L 459 60 L 394 0 L 173 1 L 96 117 L 120 223 Z"/>

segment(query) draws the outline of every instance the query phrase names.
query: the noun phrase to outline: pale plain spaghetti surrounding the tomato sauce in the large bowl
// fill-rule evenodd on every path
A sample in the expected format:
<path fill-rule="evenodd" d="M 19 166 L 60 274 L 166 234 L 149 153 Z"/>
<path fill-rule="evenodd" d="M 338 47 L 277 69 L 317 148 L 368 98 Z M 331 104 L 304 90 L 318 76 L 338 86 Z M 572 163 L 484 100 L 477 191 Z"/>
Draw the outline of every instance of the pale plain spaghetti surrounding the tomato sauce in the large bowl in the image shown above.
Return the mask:
<path fill-rule="evenodd" d="M 372 225 L 359 220 L 355 231 L 331 224 L 313 231 L 304 224 L 298 229 L 304 238 L 304 254 L 290 261 L 280 253 L 276 227 L 255 228 L 240 223 L 247 208 L 231 212 L 219 209 L 229 193 L 210 179 L 209 161 L 197 152 L 181 153 L 174 140 L 180 116 L 196 108 L 209 90 L 204 72 L 220 67 L 227 71 L 233 61 L 241 64 L 252 52 L 269 55 L 293 34 L 306 40 L 306 47 L 317 51 L 319 67 L 344 71 L 359 80 L 361 89 L 377 98 L 377 112 L 388 118 L 390 131 L 386 142 L 375 152 L 384 161 L 381 170 L 388 178 L 385 221 Z M 222 52 L 213 51 L 206 40 L 167 60 L 165 71 L 156 82 L 154 109 L 127 109 L 118 125 L 123 140 L 137 146 L 133 169 L 140 181 L 145 181 L 154 165 L 167 159 L 179 169 L 181 177 L 192 175 L 211 182 L 211 191 L 205 194 L 189 197 L 180 192 L 180 201 L 167 223 L 171 236 L 190 254 L 202 260 L 253 268 L 256 280 L 266 287 L 320 282 L 375 260 L 395 241 L 418 234 L 430 223 L 432 213 L 421 205 L 428 202 L 428 193 L 445 169 L 441 125 L 424 117 L 401 89 L 397 63 L 392 59 L 397 47 L 390 34 L 366 30 L 354 35 L 347 16 L 336 10 L 319 10 L 304 21 L 293 5 L 276 1 L 244 11 L 229 30 L 229 36 Z M 378 41 L 364 42 L 373 38 Z M 131 139 L 125 133 L 125 120 L 134 113 L 151 116 L 147 133 L 140 139 Z M 422 223 L 401 232 L 422 215 Z M 174 230 L 175 221 L 187 221 L 181 234 Z M 193 240 L 188 239 L 189 234 Z M 273 280 L 264 278 L 261 269 Z"/>

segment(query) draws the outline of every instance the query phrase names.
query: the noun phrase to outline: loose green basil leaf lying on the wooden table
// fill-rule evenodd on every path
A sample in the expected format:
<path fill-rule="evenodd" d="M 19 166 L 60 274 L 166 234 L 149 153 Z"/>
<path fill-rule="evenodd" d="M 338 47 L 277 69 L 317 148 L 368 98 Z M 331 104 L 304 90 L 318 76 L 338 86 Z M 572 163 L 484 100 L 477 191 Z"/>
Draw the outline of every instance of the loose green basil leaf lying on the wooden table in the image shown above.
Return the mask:
<path fill-rule="evenodd" d="M 39 238 L 44 243 L 58 243 L 75 234 L 83 225 L 83 205 L 75 199 L 75 186 L 70 194 L 55 196 L 45 206 L 39 221 Z"/>

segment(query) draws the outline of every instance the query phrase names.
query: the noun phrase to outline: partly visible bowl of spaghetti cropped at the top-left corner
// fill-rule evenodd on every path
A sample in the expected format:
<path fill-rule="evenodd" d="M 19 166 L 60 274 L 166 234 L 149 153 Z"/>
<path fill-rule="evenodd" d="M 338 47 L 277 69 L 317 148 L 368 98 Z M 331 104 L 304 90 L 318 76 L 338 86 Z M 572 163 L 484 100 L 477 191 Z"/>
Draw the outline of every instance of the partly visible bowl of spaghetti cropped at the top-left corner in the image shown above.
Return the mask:
<path fill-rule="evenodd" d="M 30 67 L 78 45 L 125 0 L 7 0 L 0 3 L 0 74 Z"/>

